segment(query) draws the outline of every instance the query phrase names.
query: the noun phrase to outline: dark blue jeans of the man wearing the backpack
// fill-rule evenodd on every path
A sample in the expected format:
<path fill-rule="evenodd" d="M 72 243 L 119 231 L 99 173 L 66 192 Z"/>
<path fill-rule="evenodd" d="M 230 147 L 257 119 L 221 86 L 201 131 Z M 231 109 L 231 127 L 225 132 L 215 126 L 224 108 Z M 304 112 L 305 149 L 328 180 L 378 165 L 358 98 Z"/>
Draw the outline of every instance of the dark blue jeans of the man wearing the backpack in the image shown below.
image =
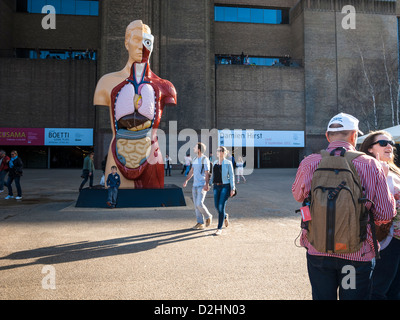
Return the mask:
<path fill-rule="evenodd" d="M 370 298 L 370 261 L 351 261 L 307 254 L 307 268 L 314 300 L 336 300 L 338 288 L 340 300 Z M 348 287 L 348 283 L 353 285 Z"/>

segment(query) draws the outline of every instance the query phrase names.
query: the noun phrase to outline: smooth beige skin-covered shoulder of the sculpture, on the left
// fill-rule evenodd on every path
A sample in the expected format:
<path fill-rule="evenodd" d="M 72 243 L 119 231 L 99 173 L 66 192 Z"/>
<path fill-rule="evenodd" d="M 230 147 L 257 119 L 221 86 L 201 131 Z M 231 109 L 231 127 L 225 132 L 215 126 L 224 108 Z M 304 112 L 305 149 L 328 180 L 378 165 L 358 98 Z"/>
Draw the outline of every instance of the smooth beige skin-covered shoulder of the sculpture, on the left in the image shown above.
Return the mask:
<path fill-rule="evenodd" d="M 121 71 L 103 75 L 97 82 L 93 104 L 98 106 L 110 106 L 111 91 L 124 81 L 125 78 L 125 75 Z"/>

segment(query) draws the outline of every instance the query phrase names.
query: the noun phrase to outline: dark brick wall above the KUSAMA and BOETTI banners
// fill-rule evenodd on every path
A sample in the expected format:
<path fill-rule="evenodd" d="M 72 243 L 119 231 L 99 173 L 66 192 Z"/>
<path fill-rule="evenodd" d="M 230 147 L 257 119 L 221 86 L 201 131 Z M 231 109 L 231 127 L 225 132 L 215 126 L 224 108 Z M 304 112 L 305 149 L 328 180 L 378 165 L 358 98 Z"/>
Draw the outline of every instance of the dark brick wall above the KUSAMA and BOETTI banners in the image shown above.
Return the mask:
<path fill-rule="evenodd" d="M 0 59 L 0 127 L 93 128 L 96 63 Z"/>

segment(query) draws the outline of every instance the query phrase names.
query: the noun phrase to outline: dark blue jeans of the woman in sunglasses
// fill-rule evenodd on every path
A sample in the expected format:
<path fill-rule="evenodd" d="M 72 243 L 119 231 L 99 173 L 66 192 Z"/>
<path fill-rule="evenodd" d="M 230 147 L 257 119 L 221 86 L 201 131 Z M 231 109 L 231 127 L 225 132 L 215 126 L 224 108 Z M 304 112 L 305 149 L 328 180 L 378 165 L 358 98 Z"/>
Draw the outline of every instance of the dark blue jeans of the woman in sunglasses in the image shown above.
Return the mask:
<path fill-rule="evenodd" d="M 372 299 L 400 300 L 400 240 L 393 238 L 380 256 L 372 276 Z"/>

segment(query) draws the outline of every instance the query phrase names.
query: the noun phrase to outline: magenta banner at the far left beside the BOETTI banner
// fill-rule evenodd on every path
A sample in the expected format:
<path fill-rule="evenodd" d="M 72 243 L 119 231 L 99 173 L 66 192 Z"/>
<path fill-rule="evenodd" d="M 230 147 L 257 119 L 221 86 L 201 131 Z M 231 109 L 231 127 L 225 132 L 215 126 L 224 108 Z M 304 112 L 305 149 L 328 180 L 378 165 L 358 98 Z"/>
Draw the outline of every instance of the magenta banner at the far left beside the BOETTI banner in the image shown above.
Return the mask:
<path fill-rule="evenodd" d="M 42 146 L 43 128 L 0 128 L 0 146 Z"/>

